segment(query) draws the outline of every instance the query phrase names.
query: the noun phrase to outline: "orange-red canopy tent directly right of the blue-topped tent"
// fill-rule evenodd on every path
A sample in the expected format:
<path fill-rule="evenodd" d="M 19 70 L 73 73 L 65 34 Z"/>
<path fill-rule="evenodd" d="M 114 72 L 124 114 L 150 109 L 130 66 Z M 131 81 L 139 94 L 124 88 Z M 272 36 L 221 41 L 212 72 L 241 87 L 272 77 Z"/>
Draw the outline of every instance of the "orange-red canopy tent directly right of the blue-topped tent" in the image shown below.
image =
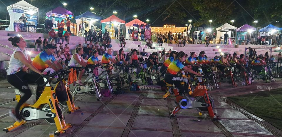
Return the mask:
<path fill-rule="evenodd" d="M 107 31 L 110 31 L 111 32 L 110 35 L 112 39 L 115 39 L 114 35 L 115 35 L 116 27 L 119 30 L 119 32 L 125 36 L 126 32 L 125 32 L 125 21 L 124 20 L 119 19 L 115 15 L 112 15 L 108 17 L 107 19 L 101 20 L 102 31 L 105 32 L 105 29 L 107 29 Z"/>

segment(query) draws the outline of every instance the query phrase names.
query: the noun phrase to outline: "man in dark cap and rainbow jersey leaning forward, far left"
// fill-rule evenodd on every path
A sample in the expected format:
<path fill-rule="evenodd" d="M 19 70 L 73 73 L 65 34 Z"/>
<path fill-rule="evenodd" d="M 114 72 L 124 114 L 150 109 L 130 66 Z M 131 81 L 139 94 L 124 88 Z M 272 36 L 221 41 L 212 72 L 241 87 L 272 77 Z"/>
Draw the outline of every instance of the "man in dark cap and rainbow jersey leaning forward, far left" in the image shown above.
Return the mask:
<path fill-rule="evenodd" d="M 54 73 L 60 69 L 63 69 L 62 65 L 55 59 L 53 53 L 57 49 L 52 44 L 47 44 L 45 50 L 40 52 L 32 61 L 32 65 L 35 66 L 41 72 L 47 72 L 49 74 Z M 33 72 L 32 72 L 33 73 Z M 53 78 L 49 79 L 49 83 Z"/>

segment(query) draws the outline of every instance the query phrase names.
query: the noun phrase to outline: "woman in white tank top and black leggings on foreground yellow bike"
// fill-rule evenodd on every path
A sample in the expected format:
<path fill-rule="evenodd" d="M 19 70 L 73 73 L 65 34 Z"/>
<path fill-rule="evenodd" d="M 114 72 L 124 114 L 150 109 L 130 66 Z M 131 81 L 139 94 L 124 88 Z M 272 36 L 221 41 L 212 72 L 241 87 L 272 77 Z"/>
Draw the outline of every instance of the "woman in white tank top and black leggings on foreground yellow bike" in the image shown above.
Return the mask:
<path fill-rule="evenodd" d="M 19 103 L 16 105 L 16 108 L 11 109 L 10 114 L 15 120 L 20 122 L 21 116 L 19 114 L 19 109 L 21 105 L 31 97 L 31 90 L 28 86 L 28 83 L 37 83 L 37 85 L 43 84 L 44 79 L 41 75 L 46 74 L 46 72 L 44 73 L 39 71 L 31 64 L 31 58 L 25 50 L 26 41 L 24 38 L 15 36 L 14 38 L 9 38 L 8 40 L 11 41 L 12 45 L 17 48 L 11 55 L 6 76 L 7 81 L 15 88 L 18 88 L 19 91 L 24 93 L 24 96 L 21 97 Z M 28 68 L 36 73 L 27 73 Z M 37 86 L 36 100 L 39 98 L 41 91 L 43 90 L 44 87 Z"/>

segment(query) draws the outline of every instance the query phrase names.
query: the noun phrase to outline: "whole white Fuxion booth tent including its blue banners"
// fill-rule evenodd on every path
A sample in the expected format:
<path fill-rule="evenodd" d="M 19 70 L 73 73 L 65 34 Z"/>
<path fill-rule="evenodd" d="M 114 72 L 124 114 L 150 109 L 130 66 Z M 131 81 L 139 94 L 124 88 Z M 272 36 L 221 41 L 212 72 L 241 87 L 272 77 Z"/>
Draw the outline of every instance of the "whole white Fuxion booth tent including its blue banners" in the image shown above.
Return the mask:
<path fill-rule="evenodd" d="M 10 16 L 10 25 L 8 27 L 9 31 L 26 31 L 25 25 L 30 25 L 33 26 L 34 32 L 36 32 L 35 26 L 37 26 L 38 19 L 37 7 L 22 0 L 7 7 L 6 20 L 8 13 Z M 27 18 L 27 24 L 24 24 L 24 21 L 19 21 L 21 16 L 25 16 Z M 29 28 L 29 31 L 33 28 Z"/>

